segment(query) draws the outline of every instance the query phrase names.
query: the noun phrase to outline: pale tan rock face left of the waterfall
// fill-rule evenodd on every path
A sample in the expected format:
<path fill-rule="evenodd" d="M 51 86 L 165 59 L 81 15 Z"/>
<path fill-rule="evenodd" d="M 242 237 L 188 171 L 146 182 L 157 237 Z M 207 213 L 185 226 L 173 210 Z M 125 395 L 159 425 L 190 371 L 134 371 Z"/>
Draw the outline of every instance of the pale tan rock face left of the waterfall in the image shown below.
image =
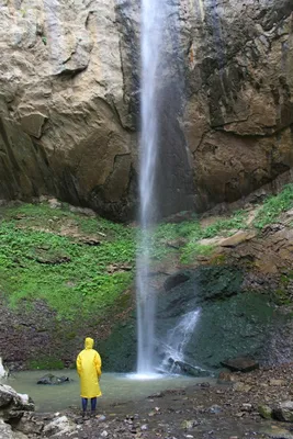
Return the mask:
<path fill-rule="evenodd" d="M 123 216 L 136 136 L 114 1 L 1 1 L 0 14 L 0 198 Z"/>

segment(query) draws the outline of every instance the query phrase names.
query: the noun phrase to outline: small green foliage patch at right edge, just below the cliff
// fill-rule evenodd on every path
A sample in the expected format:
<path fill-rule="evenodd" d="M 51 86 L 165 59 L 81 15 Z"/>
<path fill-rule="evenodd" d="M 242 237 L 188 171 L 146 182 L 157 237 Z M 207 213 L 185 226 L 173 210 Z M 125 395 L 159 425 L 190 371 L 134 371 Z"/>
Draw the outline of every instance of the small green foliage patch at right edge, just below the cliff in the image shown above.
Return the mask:
<path fill-rule="evenodd" d="M 278 216 L 293 207 L 293 184 L 288 184 L 278 195 L 269 196 L 258 211 L 253 221 L 257 228 L 263 228 L 266 225 L 273 223 Z"/>

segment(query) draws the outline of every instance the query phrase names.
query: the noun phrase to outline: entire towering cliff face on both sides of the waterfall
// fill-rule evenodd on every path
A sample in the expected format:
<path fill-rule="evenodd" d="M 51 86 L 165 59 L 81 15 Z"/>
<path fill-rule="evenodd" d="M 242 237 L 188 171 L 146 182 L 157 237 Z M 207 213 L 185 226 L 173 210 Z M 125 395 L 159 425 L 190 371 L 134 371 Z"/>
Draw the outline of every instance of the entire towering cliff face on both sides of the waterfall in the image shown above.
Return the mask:
<path fill-rule="evenodd" d="M 293 4 L 177 0 L 168 14 L 160 198 L 167 213 L 205 210 L 293 164 Z M 0 199 L 132 216 L 138 2 L 0 0 Z"/>

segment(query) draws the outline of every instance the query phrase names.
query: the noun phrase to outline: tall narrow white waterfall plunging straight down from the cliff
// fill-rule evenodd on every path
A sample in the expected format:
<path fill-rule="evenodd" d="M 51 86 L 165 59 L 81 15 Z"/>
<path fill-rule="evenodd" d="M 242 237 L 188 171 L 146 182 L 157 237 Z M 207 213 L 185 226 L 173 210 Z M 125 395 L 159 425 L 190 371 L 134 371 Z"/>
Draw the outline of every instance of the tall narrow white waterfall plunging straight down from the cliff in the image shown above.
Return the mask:
<path fill-rule="evenodd" d="M 142 0 L 142 137 L 140 226 L 137 255 L 137 373 L 153 374 L 155 346 L 155 294 L 149 283 L 151 228 L 158 216 L 156 165 L 158 153 L 158 105 L 165 0 Z"/>

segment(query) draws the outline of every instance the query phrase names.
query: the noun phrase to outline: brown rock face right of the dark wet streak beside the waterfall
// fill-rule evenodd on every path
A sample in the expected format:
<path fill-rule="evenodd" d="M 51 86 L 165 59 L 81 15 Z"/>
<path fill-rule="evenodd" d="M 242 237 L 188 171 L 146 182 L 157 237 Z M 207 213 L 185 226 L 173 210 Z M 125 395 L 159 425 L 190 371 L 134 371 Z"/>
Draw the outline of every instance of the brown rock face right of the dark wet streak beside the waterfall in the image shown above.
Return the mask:
<path fill-rule="evenodd" d="M 239 199 L 292 166 L 293 4 L 198 5 L 183 130 L 206 209 Z"/>

